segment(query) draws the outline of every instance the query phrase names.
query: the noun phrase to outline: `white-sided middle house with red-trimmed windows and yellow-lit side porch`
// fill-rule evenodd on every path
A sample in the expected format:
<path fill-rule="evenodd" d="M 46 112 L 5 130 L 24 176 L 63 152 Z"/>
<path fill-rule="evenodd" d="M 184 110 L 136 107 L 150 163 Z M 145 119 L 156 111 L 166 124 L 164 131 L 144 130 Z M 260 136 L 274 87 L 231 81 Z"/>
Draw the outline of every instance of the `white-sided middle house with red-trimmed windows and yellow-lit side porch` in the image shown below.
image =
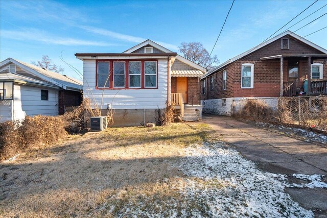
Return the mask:
<path fill-rule="evenodd" d="M 205 68 L 146 40 L 123 53 L 77 53 L 83 60 L 83 96 L 114 110 L 114 126 L 154 123 L 157 109 L 174 104 L 184 120 L 198 120 Z"/>

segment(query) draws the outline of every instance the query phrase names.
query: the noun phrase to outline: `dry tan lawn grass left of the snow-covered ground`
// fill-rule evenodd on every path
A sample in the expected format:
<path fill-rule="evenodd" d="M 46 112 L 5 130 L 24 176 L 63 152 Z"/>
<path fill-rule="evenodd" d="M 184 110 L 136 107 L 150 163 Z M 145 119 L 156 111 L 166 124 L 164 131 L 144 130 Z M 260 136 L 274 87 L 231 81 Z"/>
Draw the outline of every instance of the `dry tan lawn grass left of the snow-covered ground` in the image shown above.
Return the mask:
<path fill-rule="evenodd" d="M 1 163 L 0 216 L 115 217 L 139 200 L 145 208 L 175 201 L 181 196 L 171 183 L 183 175 L 174 163 L 211 131 L 204 124 L 109 128 L 35 148 Z"/>

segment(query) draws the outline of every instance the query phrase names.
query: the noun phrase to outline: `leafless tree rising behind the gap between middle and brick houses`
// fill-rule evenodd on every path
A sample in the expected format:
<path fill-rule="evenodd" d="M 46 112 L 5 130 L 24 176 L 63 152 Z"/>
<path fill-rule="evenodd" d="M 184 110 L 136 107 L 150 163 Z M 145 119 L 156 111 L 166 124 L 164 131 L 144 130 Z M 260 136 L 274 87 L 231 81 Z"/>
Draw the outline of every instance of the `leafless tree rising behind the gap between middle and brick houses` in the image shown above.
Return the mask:
<path fill-rule="evenodd" d="M 200 42 L 182 42 L 181 46 L 179 46 L 179 52 L 183 54 L 184 58 L 208 70 L 214 68 L 219 63 L 218 57 L 216 55 L 211 57 Z"/>

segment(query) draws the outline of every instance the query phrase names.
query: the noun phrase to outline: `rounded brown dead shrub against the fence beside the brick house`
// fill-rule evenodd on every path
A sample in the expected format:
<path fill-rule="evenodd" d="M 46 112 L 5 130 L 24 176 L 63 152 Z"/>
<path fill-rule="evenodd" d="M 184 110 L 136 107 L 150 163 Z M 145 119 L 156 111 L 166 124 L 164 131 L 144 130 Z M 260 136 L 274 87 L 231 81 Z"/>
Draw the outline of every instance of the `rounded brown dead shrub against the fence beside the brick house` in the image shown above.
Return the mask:
<path fill-rule="evenodd" d="M 274 110 L 260 100 L 248 100 L 236 116 L 252 119 L 255 122 L 271 122 L 274 120 Z"/>

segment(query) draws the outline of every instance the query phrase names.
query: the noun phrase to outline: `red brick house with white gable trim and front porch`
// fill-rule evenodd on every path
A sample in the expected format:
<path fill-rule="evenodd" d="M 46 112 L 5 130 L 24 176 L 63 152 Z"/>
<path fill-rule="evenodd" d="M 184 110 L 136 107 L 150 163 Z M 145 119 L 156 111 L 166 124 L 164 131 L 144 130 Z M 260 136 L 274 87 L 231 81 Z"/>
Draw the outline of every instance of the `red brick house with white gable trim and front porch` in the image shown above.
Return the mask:
<path fill-rule="evenodd" d="M 207 72 L 201 100 L 204 112 L 230 115 L 233 100 L 327 94 L 326 87 L 327 50 L 286 31 Z"/>

